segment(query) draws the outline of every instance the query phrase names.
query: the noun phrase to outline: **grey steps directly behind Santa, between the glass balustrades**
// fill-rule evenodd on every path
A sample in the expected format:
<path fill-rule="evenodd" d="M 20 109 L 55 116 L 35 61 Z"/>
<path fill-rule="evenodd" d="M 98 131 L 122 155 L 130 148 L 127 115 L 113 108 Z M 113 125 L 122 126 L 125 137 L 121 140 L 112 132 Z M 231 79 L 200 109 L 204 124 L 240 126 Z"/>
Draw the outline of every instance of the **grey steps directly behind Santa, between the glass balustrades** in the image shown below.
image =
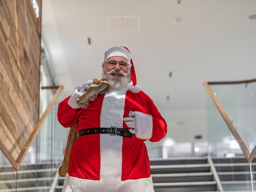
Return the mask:
<path fill-rule="evenodd" d="M 155 192 L 216 192 L 207 157 L 178 157 L 150 160 Z M 64 177 L 59 177 L 55 192 L 61 192 Z"/>

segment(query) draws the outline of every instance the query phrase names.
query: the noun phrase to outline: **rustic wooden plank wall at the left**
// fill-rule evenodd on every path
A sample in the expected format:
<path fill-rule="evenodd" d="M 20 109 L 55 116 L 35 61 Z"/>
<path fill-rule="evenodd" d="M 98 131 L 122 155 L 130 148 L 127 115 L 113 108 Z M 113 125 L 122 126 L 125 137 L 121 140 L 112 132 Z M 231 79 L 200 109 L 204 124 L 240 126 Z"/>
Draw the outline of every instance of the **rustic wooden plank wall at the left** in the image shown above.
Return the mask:
<path fill-rule="evenodd" d="M 0 0 L 0 148 L 17 168 L 39 117 L 41 0 Z"/>

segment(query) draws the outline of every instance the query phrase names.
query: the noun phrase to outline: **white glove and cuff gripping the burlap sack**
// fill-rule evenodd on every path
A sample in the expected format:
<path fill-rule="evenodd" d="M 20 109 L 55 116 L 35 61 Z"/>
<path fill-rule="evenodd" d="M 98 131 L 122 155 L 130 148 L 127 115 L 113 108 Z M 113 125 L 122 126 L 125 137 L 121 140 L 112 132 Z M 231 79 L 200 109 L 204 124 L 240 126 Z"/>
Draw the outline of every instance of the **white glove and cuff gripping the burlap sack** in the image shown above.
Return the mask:
<path fill-rule="evenodd" d="M 70 99 L 68 100 L 67 104 L 74 108 L 74 109 L 78 109 L 80 108 L 79 105 L 76 104 L 76 99 L 84 93 L 84 91 L 87 90 L 87 88 L 92 84 L 92 81 L 88 81 L 87 83 L 83 84 L 83 85 L 79 85 L 76 87 L 76 89 L 74 90 L 73 94 L 71 95 Z M 83 107 L 82 107 L 83 108 Z"/>

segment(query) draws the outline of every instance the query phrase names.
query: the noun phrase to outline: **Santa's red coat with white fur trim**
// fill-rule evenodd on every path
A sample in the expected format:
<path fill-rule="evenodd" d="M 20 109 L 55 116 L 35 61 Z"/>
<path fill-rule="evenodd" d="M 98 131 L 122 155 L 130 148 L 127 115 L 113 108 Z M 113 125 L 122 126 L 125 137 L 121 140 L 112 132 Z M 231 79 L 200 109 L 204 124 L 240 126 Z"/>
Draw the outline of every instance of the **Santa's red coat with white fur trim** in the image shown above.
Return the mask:
<path fill-rule="evenodd" d="M 88 108 L 74 109 L 67 97 L 58 107 L 58 121 L 64 127 L 76 122 L 76 131 L 87 128 L 128 128 L 123 118 L 137 111 L 138 137 L 160 141 L 167 125 L 153 101 L 143 91 L 132 93 L 132 81 L 123 89 L 98 95 Z M 151 192 L 154 191 L 145 140 L 90 134 L 79 137 L 70 152 L 64 191 Z"/>

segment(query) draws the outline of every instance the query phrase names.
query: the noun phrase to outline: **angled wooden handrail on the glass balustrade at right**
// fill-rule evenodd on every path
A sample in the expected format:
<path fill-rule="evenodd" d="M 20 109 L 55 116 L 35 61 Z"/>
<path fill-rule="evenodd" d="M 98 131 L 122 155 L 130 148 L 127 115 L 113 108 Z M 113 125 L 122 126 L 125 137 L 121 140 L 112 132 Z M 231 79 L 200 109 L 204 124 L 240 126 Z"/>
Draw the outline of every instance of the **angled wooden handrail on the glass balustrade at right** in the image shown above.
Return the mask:
<path fill-rule="evenodd" d="M 204 87 L 206 88 L 207 92 L 209 93 L 210 97 L 212 98 L 212 101 L 214 102 L 215 106 L 218 108 L 218 111 L 221 113 L 221 116 L 223 117 L 224 121 L 226 122 L 228 128 L 230 129 L 231 133 L 235 137 L 237 143 L 239 144 L 241 150 L 244 153 L 245 158 L 247 159 L 248 163 L 251 163 L 253 161 L 254 156 L 256 155 L 256 146 L 253 148 L 253 151 L 250 153 L 247 146 L 245 145 L 244 141 L 241 139 L 240 135 L 236 131 L 236 128 L 232 124 L 231 120 L 228 118 L 227 113 L 224 111 L 223 107 L 221 106 L 220 102 L 218 101 L 217 97 L 214 95 L 212 89 L 210 88 L 210 84 L 241 84 L 241 83 L 251 83 L 256 82 L 256 79 L 251 80 L 244 80 L 244 81 L 211 81 L 207 82 L 204 81 Z"/>

